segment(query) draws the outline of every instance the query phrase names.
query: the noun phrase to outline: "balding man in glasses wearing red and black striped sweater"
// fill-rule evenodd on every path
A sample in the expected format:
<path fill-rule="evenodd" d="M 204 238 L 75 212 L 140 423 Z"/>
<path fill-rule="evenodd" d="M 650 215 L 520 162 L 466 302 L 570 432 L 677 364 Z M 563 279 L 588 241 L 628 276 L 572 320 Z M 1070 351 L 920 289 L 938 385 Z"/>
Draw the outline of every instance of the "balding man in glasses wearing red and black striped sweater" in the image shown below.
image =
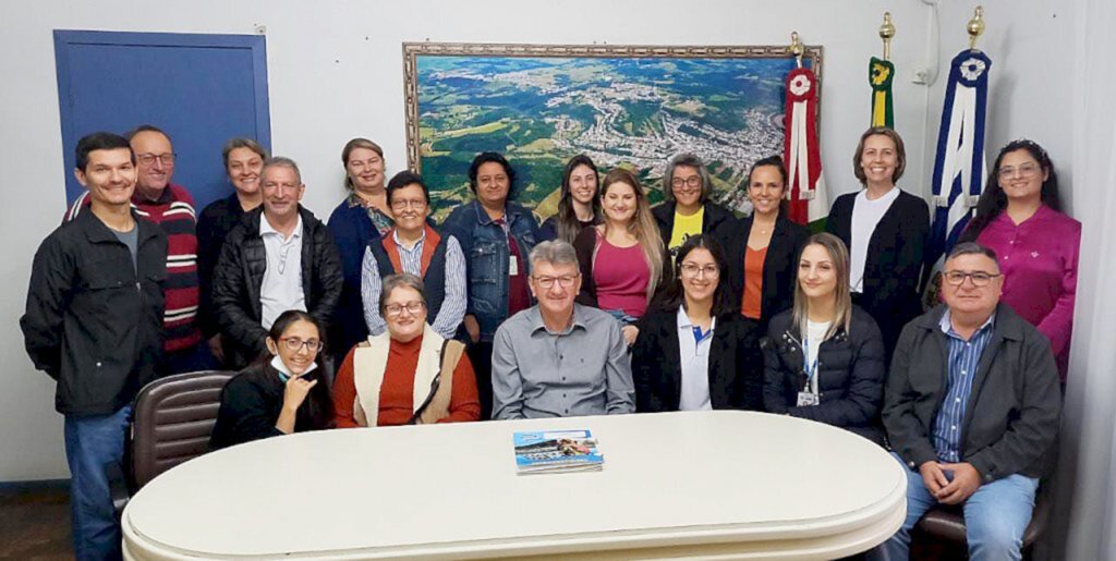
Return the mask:
<path fill-rule="evenodd" d="M 167 236 L 166 283 L 163 316 L 164 374 L 204 370 L 215 366 L 198 326 L 198 235 L 194 200 L 181 185 L 171 183 L 175 154 L 171 137 L 152 125 L 141 125 L 127 135 L 136 156 L 135 193 L 132 205 L 140 216 L 158 224 Z M 74 201 L 66 221 L 89 207 L 84 193 Z"/>

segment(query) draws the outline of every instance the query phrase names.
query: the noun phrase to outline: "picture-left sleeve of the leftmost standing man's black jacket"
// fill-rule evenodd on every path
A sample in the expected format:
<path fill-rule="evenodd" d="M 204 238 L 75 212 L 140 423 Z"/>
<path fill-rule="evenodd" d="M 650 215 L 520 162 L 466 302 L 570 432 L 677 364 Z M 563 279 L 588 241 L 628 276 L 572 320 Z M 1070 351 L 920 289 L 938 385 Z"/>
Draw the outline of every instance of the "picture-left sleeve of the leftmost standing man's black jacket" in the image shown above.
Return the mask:
<path fill-rule="evenodd" d="M 35 367 L 58 379 L 61 369 L 62 310 L 74 282 L 74 263 L 55 238 L 35 253 L 27 308 L 19 320 Z"/>

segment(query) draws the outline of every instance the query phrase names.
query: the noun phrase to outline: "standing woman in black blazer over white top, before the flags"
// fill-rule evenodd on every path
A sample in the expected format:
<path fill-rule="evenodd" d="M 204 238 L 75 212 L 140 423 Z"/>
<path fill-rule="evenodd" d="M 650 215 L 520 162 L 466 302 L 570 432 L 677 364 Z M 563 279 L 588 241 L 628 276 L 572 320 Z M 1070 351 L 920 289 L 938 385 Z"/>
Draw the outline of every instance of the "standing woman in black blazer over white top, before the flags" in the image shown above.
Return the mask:
<path fill-rule="evenodd" d="M 826 225 L 848 248 L 853 302 L 879 325 L 888 359 L 903 326 L 922 312 L 918 278 L 930 235 L 926 202 L 895 185 L 905 166 L 898 133 L 869 128 L 853 158 L 865 188 L 837 197 Z"/>

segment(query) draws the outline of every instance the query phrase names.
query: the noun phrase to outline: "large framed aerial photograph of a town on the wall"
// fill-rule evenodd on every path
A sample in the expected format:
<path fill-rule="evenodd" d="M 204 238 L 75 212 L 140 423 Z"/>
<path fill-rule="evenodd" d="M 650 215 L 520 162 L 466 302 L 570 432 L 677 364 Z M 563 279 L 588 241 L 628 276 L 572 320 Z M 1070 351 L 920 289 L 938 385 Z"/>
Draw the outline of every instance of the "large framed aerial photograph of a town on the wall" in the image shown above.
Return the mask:
<path fill-rule="evenodd" d="M 821 80 L 821 47 L 802 65 Z M 604 176 L 637 172 L 652 202 L 674 154 L 709 167 L 714 200 L 747 212 L 752 162 L 781 154 L 789 46 L 644 47 L 403 45 L 407 164 L 426 180 L 437 220 L 469 201 L 469 164 L 503 154 L 511 196 L 540 219 L 556 212 L 566 161 Z M 819 90 L 820 91 L 820 90 Z"/>

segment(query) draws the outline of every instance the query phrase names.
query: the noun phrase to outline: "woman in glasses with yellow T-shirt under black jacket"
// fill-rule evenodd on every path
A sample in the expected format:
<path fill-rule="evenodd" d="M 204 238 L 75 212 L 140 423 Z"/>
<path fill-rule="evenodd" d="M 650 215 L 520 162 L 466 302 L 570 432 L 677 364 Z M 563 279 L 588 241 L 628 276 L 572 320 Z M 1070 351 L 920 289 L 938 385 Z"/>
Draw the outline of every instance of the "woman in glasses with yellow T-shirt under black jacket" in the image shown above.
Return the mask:
<path fill-rule="evenodd" d="M 658 234 L 673 259 L 686 239 L 711 233 L 734 216 L 714 203 L 713 181 L 694 154 L 679 154 L 663 173 L 663 204 L 652 209 Z"/>

